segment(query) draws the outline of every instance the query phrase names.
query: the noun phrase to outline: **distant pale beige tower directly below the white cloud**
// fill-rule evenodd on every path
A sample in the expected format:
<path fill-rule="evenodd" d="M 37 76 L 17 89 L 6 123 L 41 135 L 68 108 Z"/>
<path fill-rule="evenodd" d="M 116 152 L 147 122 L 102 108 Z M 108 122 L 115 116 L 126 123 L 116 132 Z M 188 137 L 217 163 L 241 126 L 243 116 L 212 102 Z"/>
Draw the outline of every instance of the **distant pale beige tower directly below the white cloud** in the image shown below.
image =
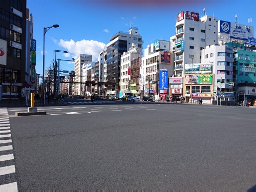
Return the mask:
<path fill-rule="evenodd" d="M 82 66 L 83 64 L 87 64 L 92 62 L 93 56 L 80 54 L 75 61 L 75 82 L 74 82 L 74 94 L 75 95 L 82 95 Z"/>

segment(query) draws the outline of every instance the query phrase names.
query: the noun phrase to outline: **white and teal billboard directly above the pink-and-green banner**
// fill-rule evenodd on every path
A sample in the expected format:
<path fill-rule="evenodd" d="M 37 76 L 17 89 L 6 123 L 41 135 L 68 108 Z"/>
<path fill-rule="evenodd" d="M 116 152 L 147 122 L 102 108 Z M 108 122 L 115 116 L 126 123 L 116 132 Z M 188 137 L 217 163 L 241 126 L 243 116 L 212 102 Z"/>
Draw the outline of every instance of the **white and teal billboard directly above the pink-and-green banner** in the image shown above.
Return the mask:
<path fill-rule="evenodd" d="M 210 63 L 191 63 L 185 64 L 184 73 L 211 73 Z"/>

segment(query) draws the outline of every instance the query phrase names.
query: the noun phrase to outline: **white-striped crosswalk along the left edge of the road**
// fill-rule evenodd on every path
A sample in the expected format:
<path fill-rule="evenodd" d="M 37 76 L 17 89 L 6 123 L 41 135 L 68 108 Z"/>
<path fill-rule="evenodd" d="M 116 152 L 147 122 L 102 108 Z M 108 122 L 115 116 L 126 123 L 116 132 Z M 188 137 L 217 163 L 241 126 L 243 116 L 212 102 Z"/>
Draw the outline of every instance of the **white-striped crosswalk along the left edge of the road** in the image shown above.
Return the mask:
<path fill-rule="evenodd" d="M 7 109 L 0 110 L 6 114 Z M 8 113 L 7 113 L 8 114 Z M 18 191 L 9 117 L 0 117 L 0 191 Z"/>

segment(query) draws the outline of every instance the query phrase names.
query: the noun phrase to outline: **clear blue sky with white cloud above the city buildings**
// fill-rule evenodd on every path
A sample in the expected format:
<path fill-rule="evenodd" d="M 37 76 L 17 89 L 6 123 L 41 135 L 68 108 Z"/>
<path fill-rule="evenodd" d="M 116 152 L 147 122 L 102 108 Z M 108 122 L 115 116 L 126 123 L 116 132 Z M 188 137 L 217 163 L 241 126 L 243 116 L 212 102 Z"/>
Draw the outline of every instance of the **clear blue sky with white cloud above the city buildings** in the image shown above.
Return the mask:
<path fill-rule="evenodd" d="M 139 28 L 144 49 L 157 39 L 169 40 L 181 11 L 201 17 L 205 8 L 207 15 L 233 23 L 237 14 L 238 23 L 246 25 L 252 18 L 251 26 L 255 26 L 255 7 L 255 0 L 27 0 L 34 18 L 36 72 L 42 75 L 44 27 L 54 24 L 59 28 L 48 30 L 45 36 L 45 69 L 52 63 L 54 49 L 68 51 L 57 53 L 60 59 L 91 54 L 97 60 L 110 38 L 119 31 L 128 32 L 130 26 Z M 60 69 L 74 70 L 74 64 L 60 61 Z"/>

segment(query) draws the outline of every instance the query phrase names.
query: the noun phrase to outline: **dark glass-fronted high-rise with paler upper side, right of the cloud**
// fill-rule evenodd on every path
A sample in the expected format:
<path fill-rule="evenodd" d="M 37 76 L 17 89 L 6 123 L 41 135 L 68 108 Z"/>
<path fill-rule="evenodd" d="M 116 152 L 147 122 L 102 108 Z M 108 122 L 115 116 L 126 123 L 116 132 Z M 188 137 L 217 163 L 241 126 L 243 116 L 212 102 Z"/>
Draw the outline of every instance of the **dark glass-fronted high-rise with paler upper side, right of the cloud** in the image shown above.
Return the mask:
<path fill-rule="evenodd" d="M 120 58 L 123 52 L 127 52 L 135 44 L 140 51 L 142 51 L 142 36 L 139 35 L 137 27 L 131 27 L 129 33 L 118 32 L 106 45 L 106 82 L 110 83 L 106 91 L 120 90 L 119 82 L 121 77 L 120 72 Z M 112 84 L 111 84 L 112 83 Z"/>

